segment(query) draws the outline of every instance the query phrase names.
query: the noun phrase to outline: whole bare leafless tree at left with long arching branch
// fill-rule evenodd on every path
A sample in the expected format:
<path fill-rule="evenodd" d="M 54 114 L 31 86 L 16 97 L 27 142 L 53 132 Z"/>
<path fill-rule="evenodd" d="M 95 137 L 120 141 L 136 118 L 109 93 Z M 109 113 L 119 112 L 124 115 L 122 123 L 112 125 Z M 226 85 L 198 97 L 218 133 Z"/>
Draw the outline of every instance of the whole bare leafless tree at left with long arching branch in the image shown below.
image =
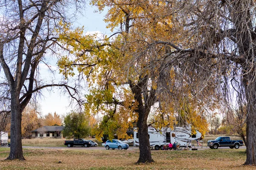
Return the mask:
<path fill-rule="evenodd" d="M 54 28 L 60 28 L 60 21 L 70 22 L 74 16 L 66 11 L 75 7 L 76 13 L 83 5 L 83 0 L 79 3 L 76 0 L 0 1 L 0 63 L 5 75 L 0 82 L 1 105 L 6 104 L 5 108 L 11 112 L 12 143 L 7 159 L 24 160 L 22 112 L 41 89 L 59 86 L 65 88 L 73 99 L 76 97 L 77 91 L 68 86 L 67 81 L 49 83 L 40 79 L 39 63 L 49 66 L 47 57 L 52 57 L 58 39 Z M 48 68 L 52 71 L 50 66 Z"/>

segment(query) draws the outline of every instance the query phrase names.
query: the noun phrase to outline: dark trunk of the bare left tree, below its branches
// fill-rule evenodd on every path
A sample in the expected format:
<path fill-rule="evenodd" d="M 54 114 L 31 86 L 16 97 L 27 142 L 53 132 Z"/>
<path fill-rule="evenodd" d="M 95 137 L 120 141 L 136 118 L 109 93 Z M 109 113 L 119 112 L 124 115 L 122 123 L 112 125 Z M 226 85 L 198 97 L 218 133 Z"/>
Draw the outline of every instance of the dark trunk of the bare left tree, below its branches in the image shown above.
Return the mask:
<path fill-rule="evenodd" d="M 8 160 L 25 160 L 21 144 L 21 113 L 19 93 L 11 92 L 11 148 Z"/>

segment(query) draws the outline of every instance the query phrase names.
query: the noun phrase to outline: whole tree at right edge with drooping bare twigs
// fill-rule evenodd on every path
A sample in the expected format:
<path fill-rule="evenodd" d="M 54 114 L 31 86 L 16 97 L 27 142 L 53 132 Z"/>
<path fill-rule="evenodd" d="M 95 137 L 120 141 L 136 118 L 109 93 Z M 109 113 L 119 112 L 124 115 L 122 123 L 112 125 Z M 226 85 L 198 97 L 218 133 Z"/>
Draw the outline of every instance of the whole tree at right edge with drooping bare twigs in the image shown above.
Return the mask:
<path fill-rule="evenodd" d="M 231 105 L 230 110 L 247 105 L 245 164 L 256 165 L 255 1 L 186 0 L 176 8 L 191 39 L 187 39 L 188 46 L 182 46 L 189 51 L 180 53 L 200 65 L 204 74 L 217 77 L 218 96 L 226 106 Z"/>

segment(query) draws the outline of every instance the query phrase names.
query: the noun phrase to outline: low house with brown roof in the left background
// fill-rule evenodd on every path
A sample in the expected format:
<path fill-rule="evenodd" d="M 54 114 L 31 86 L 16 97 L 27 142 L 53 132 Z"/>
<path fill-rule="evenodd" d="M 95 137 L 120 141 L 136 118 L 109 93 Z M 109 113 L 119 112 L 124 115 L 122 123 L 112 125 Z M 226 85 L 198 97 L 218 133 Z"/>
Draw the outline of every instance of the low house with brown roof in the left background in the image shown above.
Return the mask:
<path fill-rule="evenodd" d="M 62 130 L 64 126 L 43 126 L 36 130 L 32 130 L 32 138 L 62 138 Z"/>

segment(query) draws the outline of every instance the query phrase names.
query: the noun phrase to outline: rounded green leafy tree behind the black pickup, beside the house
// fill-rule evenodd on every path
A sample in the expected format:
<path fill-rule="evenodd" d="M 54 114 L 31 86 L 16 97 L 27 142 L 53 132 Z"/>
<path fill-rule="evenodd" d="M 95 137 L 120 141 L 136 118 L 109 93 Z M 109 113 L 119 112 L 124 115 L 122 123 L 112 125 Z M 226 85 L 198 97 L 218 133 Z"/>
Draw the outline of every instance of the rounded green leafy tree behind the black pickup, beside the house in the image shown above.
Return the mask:
<path fill-rule="evenodd" d="M 88 117 L 84 113 L 71 112 L 64 118 L 63 136 L 84 138 L 90 134 Z"/>

